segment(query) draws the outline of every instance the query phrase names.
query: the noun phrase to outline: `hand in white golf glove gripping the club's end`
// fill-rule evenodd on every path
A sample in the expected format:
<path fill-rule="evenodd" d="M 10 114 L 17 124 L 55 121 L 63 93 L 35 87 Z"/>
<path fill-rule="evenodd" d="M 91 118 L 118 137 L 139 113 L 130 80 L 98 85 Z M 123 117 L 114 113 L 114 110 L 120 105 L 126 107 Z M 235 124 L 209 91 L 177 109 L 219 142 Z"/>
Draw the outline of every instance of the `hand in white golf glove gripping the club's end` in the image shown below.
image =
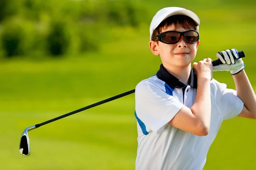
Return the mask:
<path fill-rule="evenodd" d="M 223 64 L 212 67 L 212 71 L 230 71 L 232 75 L 238 74 L 245 67 L 243 60 L 237 59 L 238 52 L 235 48 L 217 53 L 217 59 L 220 59 Z"/>

